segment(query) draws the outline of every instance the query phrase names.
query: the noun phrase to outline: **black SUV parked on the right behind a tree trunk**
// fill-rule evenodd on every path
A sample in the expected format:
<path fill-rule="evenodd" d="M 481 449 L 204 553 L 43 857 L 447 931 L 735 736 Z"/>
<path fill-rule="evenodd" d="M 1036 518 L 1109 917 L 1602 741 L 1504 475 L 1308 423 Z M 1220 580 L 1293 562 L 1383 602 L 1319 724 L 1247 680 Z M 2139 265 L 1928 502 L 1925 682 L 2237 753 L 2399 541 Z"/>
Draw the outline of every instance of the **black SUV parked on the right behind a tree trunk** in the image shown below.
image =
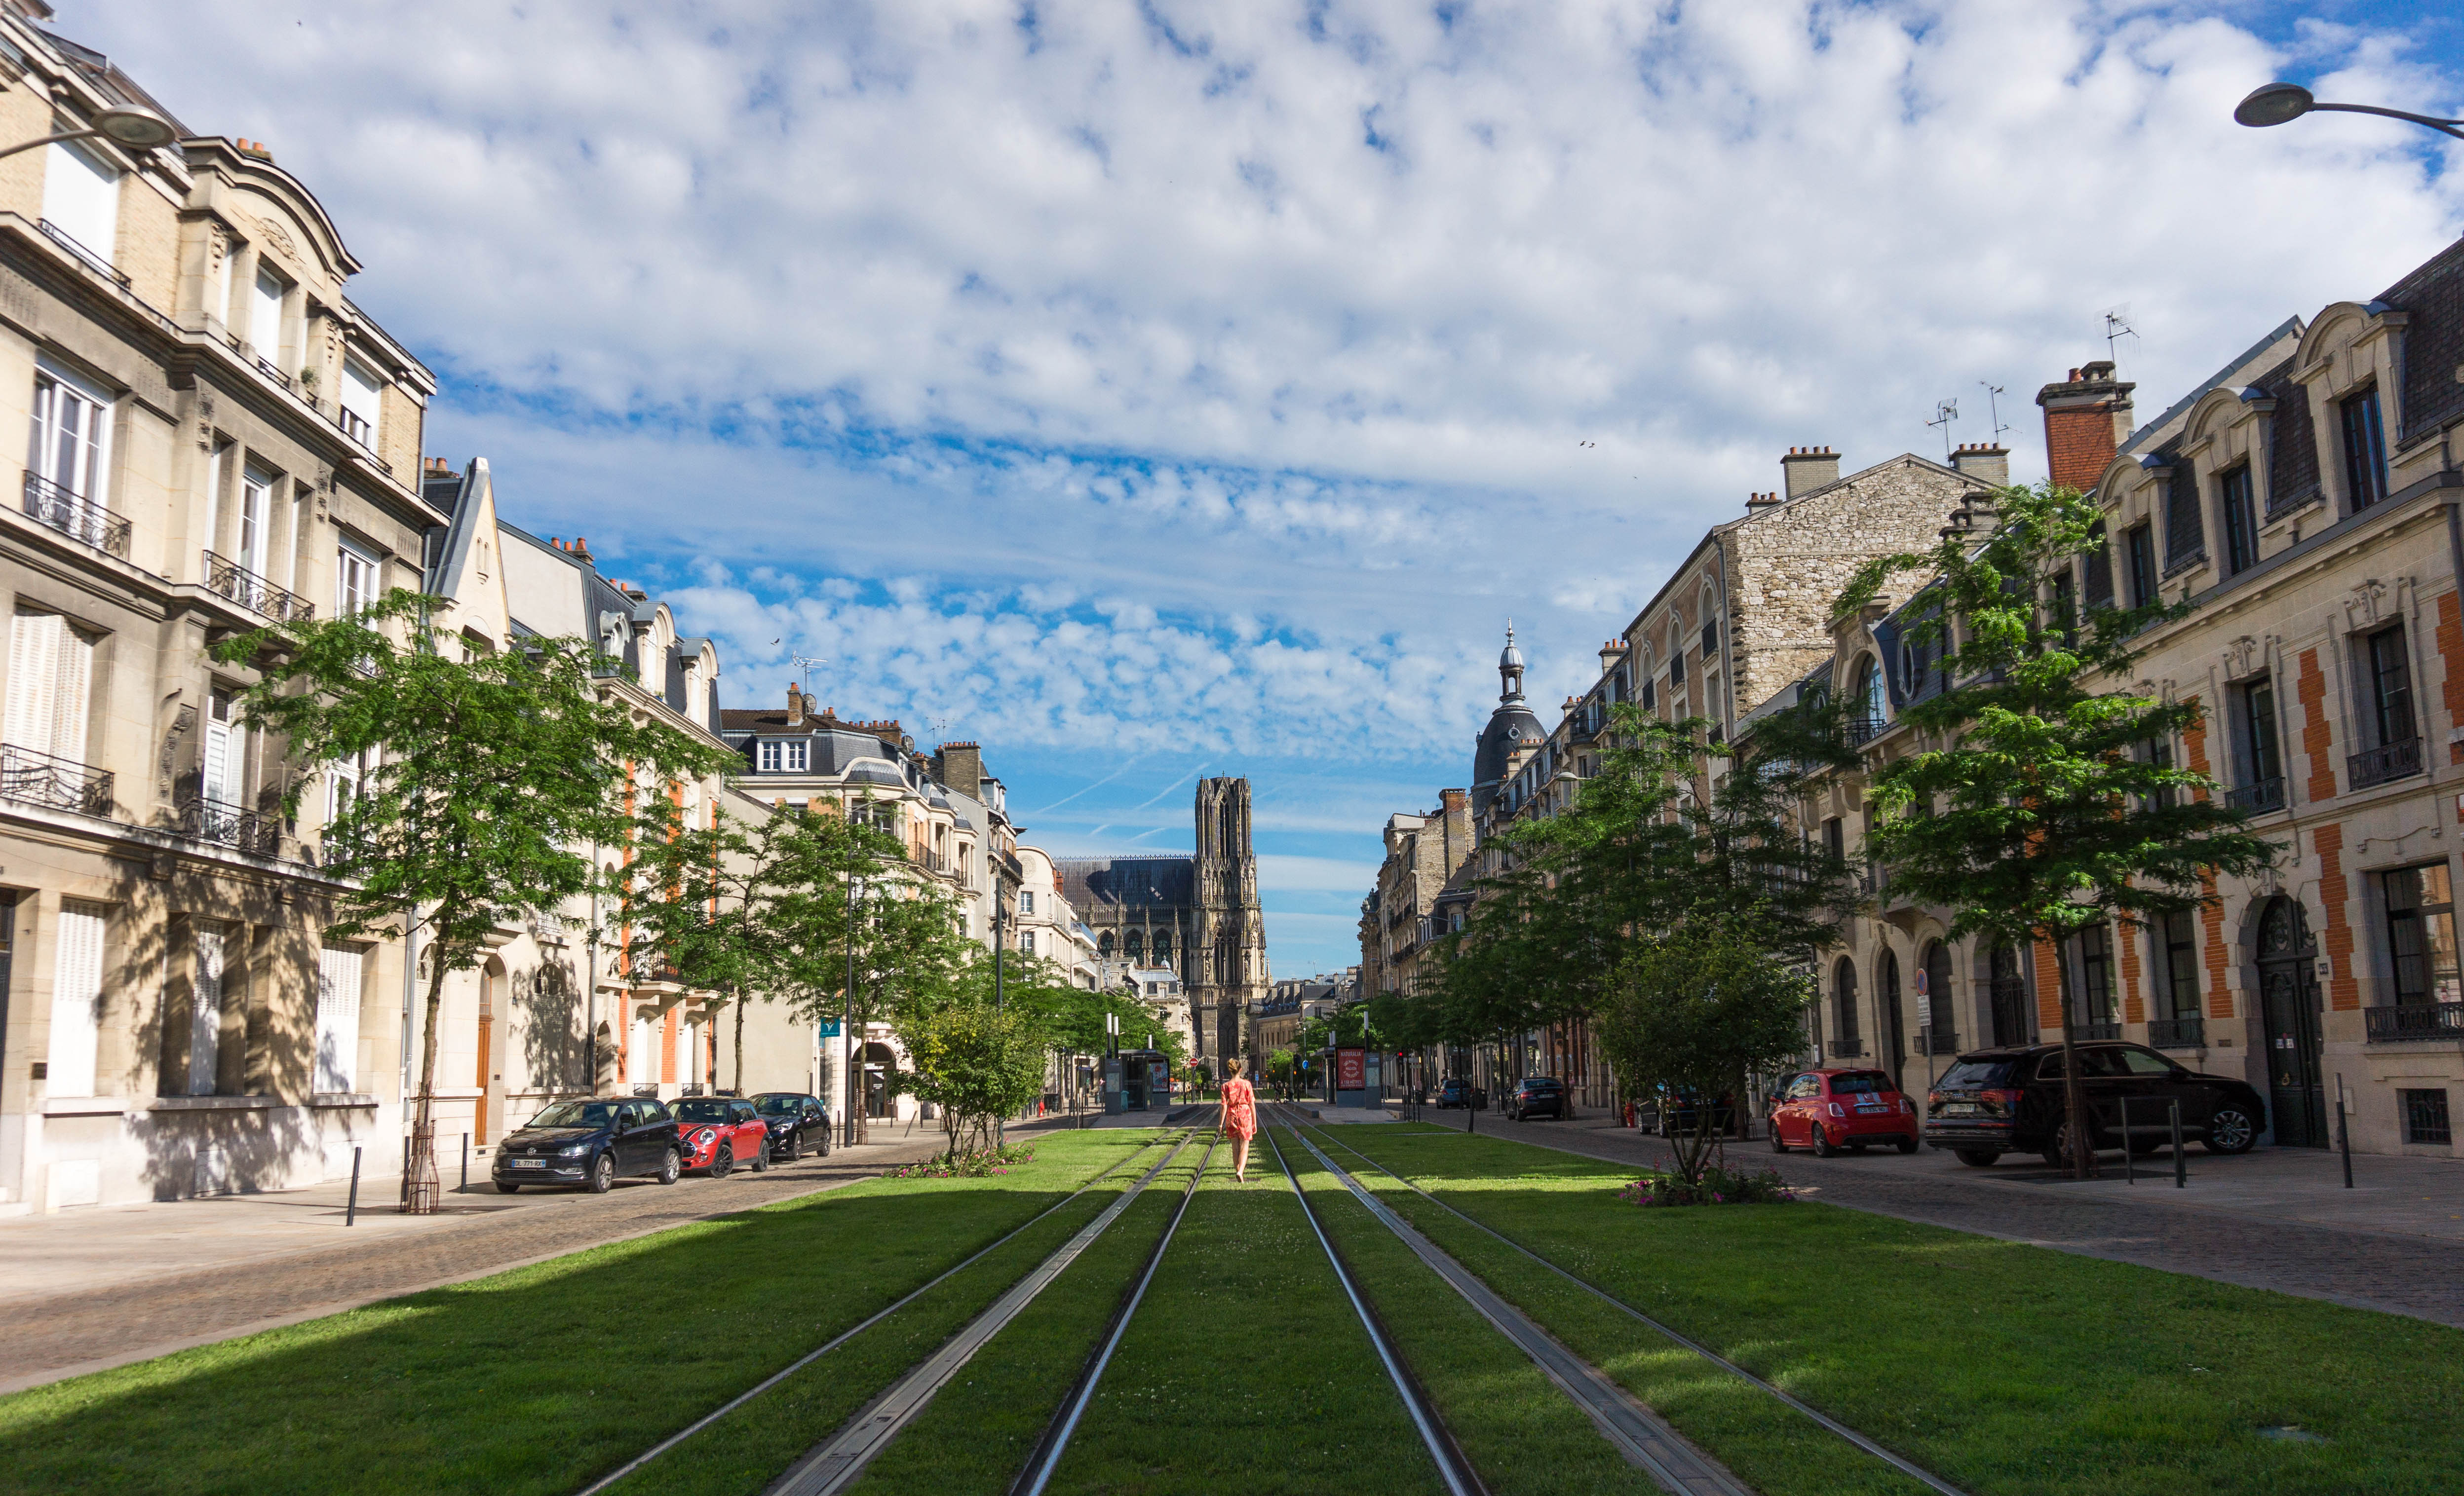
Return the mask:
<path fill-rule="evenodd" d="M 2094 1040 L 2075 1047 L 2094 1148 L 2124 1146 L 2124 1102 L 2131 1153 L 2154 1153 L 2171 1141 L 2171 1102 L 2181 1102 L 2181 1134 L 2210 1153 L 2247 1153 L 2267 1131 L 2267 1102 L 2245 1079 L 2186 1070 L 2144 1045 Z M 1927 1146 L 1949 1148 L 1976 1168 L 2003 1153 L 2040 1153 L 2060 1166 L 2067 1161 L 2065 1129 L 2062 1045 L 1961 1055 L 1924 1097 Z"/>

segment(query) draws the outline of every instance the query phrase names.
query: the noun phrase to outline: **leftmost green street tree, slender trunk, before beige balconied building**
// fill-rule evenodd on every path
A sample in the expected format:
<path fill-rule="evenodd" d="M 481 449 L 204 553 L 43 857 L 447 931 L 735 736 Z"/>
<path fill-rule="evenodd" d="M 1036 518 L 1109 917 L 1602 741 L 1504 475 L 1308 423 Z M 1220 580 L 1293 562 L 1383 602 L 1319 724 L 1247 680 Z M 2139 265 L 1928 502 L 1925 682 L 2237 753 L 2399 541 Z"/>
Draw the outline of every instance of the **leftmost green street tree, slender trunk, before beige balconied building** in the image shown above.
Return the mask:
<path fill-rule="evenodd" d="M 365 766 L 325 833 L 342 882 L 330 937 L 429 934 L 429 996 L 411 1121 L 411 1210 L 436 1208 L 436 1015 L 448 971 L 473 971 L 500 927 L 562 919 L 599 880 L 596 845 L 621 843 L 636 784 L 712 774 L 732 754 L 601 693 L 606 656 L 579 638 L 468 651 L 434 624 L 436 599 L 397 589 L 345 619 L 288 621 L 214 646 L 256 665 L 241 720 L 288 739 L 315 776 Z M 384 624 L 399 626 L 397 641 Z"/>

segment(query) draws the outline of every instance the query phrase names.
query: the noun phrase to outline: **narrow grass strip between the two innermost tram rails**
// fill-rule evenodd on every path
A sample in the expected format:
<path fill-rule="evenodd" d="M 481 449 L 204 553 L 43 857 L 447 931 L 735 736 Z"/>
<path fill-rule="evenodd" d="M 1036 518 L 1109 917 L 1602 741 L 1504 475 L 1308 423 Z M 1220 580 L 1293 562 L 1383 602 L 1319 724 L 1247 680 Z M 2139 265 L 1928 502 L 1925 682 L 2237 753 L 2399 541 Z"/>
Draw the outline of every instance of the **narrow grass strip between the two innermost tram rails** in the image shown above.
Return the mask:
<path fill-rule="evenodd" d="M 1215 1151 L 1052 1491 L 1441 1489 L 1274 1153 L 1249 1163 L 1237 1185 Z"/>

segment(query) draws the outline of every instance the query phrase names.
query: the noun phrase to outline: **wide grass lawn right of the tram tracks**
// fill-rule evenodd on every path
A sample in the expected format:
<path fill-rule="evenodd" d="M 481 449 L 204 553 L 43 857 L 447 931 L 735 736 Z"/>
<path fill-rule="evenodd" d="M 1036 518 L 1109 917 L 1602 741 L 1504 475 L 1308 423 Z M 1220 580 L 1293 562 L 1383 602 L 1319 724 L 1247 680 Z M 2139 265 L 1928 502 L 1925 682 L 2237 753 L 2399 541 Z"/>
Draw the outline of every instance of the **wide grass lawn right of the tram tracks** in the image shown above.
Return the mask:
<path fill-rule="evenodd" d="M 1631 1168 L 1501 1139 L 1318 1136 L 1979 1496 L 2464 1489 L 2457 1328 L 1831 1205 L 1643 1210 L 1614 1198 Z M 1818 1437 L 1769 1457 L 1742 1383 L 1395 1181 L 1358 1178 L 1767 1496 L 1855 1489 L 1843 1474 L 1875 1466 Z M 2326 1442 L 2259 1434 L 2284 1425 Z"/>

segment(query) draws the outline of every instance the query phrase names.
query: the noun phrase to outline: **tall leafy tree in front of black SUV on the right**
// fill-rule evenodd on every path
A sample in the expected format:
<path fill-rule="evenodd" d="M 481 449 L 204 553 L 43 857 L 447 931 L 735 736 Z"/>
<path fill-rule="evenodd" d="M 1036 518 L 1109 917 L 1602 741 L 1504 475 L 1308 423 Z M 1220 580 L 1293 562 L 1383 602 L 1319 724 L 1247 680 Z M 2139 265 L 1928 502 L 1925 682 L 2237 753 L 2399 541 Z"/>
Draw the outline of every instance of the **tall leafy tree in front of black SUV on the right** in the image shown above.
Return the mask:
<path fill-rule="evenodd" d="M 2065 1151 L 2087 1178 L 2070 937 L 2213 905 L 2220 872 L 2259 872 L 2277 848 L 2245 828 L 2213 779 L 2151 752 L 2200 725 L 2198 697 L 2097 690 L 2131 680 L 2134 641 L 2188 604 L 2072 614 L 2067 591 L 2043 587 L 2102 545 L 2097 505 L 2055 486 L 2003 488 L 1996 503 L 2001 522 L 1984 542 L 1947 535 L 1934 550 L 1880 557 L 1841 594 L 1846 614 L 1887 579 L 1929 572 L 1919 596 L 1934 601 L 1910 636 L 1942 648 L 1951 680 L 1900 712 L 1919 747 L 1875 771 L 1880 818 L 1865 845 L 1900 892 L 1951 912 L 1951 939 L 2053 946 Z"/>

